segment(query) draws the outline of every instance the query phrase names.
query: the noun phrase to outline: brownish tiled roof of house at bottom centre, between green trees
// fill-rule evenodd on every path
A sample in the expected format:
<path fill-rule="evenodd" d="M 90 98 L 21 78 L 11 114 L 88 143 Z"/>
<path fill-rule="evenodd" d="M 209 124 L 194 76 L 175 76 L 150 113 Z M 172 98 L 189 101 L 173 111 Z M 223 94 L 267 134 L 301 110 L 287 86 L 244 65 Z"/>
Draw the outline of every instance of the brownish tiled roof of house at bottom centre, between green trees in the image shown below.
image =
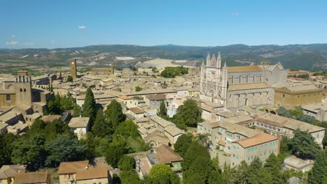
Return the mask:
<path fill-rule="evenodd" d="M 156 158 L 159 163 L 170 164 L 171 162 L 180 162 L 183 160 L 178 153 L 175 153 L 175 151 L 167 145 L 162 144 L 154 149 L 157 152 Z"/>

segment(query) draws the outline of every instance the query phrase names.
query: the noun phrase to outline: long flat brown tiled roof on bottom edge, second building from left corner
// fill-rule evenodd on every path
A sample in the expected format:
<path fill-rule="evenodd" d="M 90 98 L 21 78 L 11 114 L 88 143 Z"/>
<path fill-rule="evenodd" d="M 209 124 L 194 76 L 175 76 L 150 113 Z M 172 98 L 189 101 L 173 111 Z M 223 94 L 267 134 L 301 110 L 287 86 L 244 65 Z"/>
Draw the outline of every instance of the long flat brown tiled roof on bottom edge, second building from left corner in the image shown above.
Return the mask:
<path fill-rule="evenodd" d="M 13 184 L 48 183 L 48 172 L 17 173 Z"/>

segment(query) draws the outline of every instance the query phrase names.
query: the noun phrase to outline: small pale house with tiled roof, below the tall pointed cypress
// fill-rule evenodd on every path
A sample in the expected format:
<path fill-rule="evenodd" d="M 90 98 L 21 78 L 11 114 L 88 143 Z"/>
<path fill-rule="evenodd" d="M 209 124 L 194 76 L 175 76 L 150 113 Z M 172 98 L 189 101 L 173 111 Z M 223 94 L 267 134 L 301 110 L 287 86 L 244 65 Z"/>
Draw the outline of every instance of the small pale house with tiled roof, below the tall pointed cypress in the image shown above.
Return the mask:
<path fill-rule="evenodd" d="M 89 132 L 89 117 L 71 118 L 68 126 L 78 136 L 78 139 L 81 139 Z"/>

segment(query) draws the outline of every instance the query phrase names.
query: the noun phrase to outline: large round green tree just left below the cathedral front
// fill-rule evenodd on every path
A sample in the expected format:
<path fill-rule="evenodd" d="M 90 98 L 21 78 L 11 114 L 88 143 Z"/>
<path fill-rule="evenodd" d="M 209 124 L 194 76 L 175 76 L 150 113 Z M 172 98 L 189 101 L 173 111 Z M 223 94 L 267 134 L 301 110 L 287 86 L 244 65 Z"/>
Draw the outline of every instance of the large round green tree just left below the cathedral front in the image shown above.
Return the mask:
<path fill-rule="evenodd" d="M 196 127 L 197 123 L 202 121 L 201 114 L 201 107 L 198 106 L 196 100 L 185 100 L 184 104 L 178 107 L 173 123 L 182 129 L 186 129 L 187 126 Z"/>

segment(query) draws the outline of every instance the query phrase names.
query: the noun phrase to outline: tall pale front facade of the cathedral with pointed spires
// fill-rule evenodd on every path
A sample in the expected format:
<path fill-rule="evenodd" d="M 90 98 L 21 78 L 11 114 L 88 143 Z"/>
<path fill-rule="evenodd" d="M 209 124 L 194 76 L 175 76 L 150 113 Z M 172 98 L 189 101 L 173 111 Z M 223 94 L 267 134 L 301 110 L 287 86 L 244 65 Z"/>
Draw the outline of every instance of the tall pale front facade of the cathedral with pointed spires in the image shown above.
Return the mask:
<path fill-rule="evenodd" d="M 207 102 L 214 102 L 226 105 L 227 96 L 227 68 L 226 63 L 221 68 L 221 55 L 210 53 L 207 56 L 206 65 L 201 66 L 200 99 Z M 226 107 L 226 106 L 225 106 Z"/>

